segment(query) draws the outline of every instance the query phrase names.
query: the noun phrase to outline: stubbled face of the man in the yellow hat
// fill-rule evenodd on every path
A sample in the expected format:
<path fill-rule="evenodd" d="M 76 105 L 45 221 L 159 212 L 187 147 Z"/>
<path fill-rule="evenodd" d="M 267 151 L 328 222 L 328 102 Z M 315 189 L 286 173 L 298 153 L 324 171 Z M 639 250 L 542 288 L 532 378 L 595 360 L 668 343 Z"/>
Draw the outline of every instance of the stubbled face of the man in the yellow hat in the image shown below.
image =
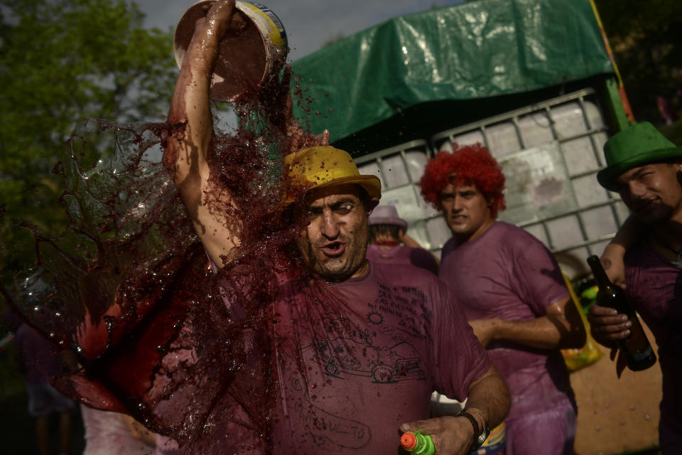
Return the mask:
<path fill-rule="evenodd" d="M 296 246 L 303 263 L 331 282 L 367 273 L 367 211 L 356 185 L 310 191 L 305 198 L 308 219 Z"/>

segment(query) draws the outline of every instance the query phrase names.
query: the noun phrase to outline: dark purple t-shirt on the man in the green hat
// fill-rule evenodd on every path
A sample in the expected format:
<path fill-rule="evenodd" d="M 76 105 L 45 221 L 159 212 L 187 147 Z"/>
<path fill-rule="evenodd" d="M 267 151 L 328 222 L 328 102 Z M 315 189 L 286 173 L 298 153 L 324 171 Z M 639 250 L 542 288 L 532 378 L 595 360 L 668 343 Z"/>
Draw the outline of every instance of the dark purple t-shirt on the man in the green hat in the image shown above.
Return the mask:
<path fill-rule="evenodd" d="M 625 255 L 625 282 L 632 306 L 659 346 L 661 423 L 682 434 L 682 269 L 642 240 Z"/>

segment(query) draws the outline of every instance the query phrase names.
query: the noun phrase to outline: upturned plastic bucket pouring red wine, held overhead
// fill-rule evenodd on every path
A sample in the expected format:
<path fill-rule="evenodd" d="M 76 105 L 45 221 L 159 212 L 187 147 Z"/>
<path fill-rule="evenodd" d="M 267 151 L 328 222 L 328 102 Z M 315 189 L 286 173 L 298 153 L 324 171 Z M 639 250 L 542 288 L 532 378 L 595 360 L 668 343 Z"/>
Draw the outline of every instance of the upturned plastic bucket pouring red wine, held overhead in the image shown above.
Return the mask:
<path fill-rule="evenodd" d="M 194 34 L 196 21 L 205 17 L 215 0 L 200 0 L 190 6 L 178 21 L 173 35 L 173 54 L 178 68 Z M 281 68 L 288 48 L 286 32 L 279 18 L 266 6 L 237 1 L 234 16 L 244 19 L 239 31 L 225 32 L 213 68 L 210 97 L 234 101 L 246 90 L 253 90 Z"/>

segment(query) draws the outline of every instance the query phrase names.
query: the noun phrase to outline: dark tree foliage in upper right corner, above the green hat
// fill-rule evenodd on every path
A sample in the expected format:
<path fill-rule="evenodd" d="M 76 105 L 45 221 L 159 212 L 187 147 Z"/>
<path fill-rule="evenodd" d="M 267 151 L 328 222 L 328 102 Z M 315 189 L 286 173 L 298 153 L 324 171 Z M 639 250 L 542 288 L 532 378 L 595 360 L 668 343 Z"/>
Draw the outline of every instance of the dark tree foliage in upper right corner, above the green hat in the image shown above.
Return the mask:
<path fill-rule="evenodd" d="M 656 97 L 682 110 L 682 1 L 595 0 L 639 121 L 661 124 Z"/>

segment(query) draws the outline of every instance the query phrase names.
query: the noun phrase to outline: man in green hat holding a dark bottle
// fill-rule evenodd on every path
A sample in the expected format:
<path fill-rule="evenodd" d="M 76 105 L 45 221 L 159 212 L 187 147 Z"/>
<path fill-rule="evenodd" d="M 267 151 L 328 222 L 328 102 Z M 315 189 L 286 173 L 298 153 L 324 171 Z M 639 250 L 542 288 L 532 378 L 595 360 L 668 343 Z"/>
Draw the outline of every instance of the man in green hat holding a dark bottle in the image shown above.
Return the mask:
<path fill-rule="evenodd" d="M 644 225 L 625 255 L 630 301 L 659 346 L 663 400 L 659 439 L 664 454 L 682 454 L 682 148 L 650 123 L 632 124 L 604 145 L 607 167 L 597 180 L 617 191 Z M 592 335 L 604 346 L 629 335 L 627 316 L 590 308 Z"/>

